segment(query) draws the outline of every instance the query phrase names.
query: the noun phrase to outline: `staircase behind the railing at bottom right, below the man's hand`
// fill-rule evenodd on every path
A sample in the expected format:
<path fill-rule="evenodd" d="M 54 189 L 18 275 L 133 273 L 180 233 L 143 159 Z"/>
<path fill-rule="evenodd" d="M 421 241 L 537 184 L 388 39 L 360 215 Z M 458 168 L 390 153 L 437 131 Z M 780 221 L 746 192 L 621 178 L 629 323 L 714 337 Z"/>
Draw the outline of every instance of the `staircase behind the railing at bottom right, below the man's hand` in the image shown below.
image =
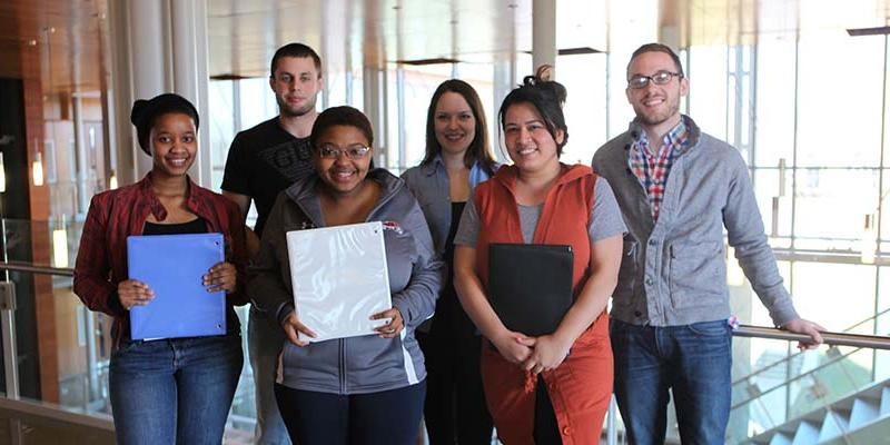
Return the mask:
<path fill-rule="evenodd" d="M 828 348 L 784 356 L 759 344 L 754 370 L 732 384 L 725 442 L 890 445 L 888 322 L 890 308 L 840 334 L 850 339 L 870 335 L 864 343 L 827 340 Z M 873 330 L 881 334 L 868 334 Z"/>

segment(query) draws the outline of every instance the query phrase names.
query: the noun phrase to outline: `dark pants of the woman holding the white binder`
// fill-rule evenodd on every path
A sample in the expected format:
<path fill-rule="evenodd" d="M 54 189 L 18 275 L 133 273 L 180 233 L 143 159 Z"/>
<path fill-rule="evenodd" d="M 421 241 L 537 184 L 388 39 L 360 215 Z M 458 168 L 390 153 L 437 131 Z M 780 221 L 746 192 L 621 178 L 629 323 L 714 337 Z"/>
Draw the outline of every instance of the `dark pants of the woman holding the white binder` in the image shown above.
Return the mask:
<path fill-rule="evenodd" d="M 372 394 L 338 395 L 275 385 L 290 441 L 300 445 L 413 445 L 426 382 Z"/>

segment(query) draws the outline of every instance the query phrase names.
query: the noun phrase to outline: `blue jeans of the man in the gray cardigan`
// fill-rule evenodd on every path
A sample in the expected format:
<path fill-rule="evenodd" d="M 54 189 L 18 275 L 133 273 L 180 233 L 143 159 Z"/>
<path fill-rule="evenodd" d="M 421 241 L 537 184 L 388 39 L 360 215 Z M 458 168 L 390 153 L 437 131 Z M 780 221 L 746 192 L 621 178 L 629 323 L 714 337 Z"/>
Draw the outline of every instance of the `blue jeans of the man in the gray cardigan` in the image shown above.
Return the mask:
<path fill-rule="evenodd" d="M 671 390 L 684 444 L 723 444 L 732 395 L 725 320 L 634 326 L 612 319 L 615 398 L 631 444 L 663 444 Z"/>

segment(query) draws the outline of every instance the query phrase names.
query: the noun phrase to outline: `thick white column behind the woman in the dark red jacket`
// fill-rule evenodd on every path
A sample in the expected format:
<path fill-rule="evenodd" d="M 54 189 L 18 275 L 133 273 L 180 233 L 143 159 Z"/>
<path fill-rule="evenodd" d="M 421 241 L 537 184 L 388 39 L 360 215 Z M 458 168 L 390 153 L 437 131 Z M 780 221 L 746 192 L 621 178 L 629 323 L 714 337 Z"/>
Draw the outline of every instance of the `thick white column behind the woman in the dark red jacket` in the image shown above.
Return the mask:
<path fill-rule="evenodd" d="M 139 180 L 151 169 L 151 158 L 141 152 L 130 110 L 136 99 L 176 92 L 198 109 L 198 159 L 192 179 L 204 187 L 210 184 L 210 136 L 207 125 L 207 2 L 194 1 L 112 1 L 108 4 L 111 47 L 111 89 L 117 110 L 110 116 L 115 132 L 120 185 Z"/>

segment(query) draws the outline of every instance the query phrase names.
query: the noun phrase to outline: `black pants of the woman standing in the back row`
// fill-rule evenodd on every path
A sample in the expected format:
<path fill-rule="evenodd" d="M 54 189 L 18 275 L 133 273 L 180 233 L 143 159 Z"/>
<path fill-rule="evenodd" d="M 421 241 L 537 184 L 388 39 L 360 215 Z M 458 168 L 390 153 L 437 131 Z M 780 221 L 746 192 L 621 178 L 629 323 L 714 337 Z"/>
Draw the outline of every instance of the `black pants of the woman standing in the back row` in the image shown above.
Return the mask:
<path fill-rule="evenodd" d="M 416 333 L 426 364 L 424 418 L 431 445 L 490 445 L 492 416 L 485 405 L 476 336 Z"/>

